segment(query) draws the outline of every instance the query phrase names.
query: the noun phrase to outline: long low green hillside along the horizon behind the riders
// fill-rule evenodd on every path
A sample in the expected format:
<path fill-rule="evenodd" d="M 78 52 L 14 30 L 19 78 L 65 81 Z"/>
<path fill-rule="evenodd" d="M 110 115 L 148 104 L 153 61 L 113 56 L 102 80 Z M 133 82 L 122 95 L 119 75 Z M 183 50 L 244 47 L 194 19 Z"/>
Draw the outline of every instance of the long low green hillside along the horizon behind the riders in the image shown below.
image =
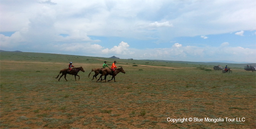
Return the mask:
<path fill-rule="evenodd" d="M 73 63 L 81 64 L 101 64 L 102 60 L 107 60 L 103 57 L 88 57 L 79 55 L 64 55 L 64 54 L 53 54 L 53 53 L 34 53 L 34 52 L 8 52 L 1 50 L 1 61 L 2 60 L 16 60 L 16 61 L 36 61 L 36 62 L 59 62 L 67 63 L 72 61 Z M 113 59 L 116 58 L 116 59 Z M 204 63 L 204 62 L 189 62 L 189 61 L 167 61 L 167 60 L 132 60 L 132 59 L 118 59 L 113 56 L 108 58 L 112 61 L 117 60 L 118 63 L 122 64 L 136 64 L 136 65 L 149 65 L 149 66 L 165 66 L 165 67 L 207 67 L 213 69 L 214 66 L 226 66 L 231 69 L 243 69 L 247 65 L 256 66 L 256 63 L 246 63 L 246 64 L 235 64 L 235 63 Z M 86 59 L 86 60 L 84 60 Z M 99 60 L 95 60 L 99 59 Z M 121 63 L 122 62 L 122 63 Z"/>

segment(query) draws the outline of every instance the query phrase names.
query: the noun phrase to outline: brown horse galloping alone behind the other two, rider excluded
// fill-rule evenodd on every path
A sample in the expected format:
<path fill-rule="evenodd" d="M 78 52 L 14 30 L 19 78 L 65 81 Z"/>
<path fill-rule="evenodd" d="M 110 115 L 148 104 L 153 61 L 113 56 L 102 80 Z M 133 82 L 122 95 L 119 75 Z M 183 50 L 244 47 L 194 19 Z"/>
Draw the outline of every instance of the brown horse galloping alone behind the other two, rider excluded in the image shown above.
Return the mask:
<path fill-rule="evenodd" d="M 71 75 L 75 75 L 75 80 L 76 80 L 76 76 L 78 76 L 79 79 L 80 79 L 80 76 L 77 75 L 80 70 L 84 72 L 84 69 L 83 69 L 82 66 L 78 67 L 78 68 L 73 68 L 70 72 L 69 72 L 69 69 L 62 69 L 62 70 L 60 70 L 60 74 L 62 73 L 60 78 L 62 78 L 62 76 L 64 75 L 64 78 L 66 79 L 66 74 L 71 74 Z M 59 77 L 59 75 L 57 77 L 55 77 L 55 78 L 57 79 Z M 60 81 L 60 78 L 59 78 L 59 81 Z M 68 80 L 66 80 L 66 81 L 68 81 Z"/>

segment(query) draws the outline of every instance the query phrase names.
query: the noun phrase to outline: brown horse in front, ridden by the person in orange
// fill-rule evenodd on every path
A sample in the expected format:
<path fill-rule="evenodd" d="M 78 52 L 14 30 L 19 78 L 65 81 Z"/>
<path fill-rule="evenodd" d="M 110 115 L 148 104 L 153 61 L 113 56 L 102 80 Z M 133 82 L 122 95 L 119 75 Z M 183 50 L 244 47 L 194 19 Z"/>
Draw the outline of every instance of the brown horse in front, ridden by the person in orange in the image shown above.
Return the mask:
<path fill-rule="evenodd" d="M 119 72 L 123 72 L 123 73 L 125 74 L 125 71 L 123 70 L 122 67 L 121 67 L 121 68 L 118 68 L 118 69 L 115 69 L 114 72 L 112 72 L 111 69 L 105 68 L 105 69 L 102 69 L 102 74 L 100 75 L 100 78 L 102 78 L 102 76 L 105 76 L 105 78 L 104 78 L 103 80 L 105 80 L 105 82 L 106 82 L 107 76 L 108 76 L 108 75 L 112 75 L 112 79 L 111 79 L 111 80 L 113 80 L 113 78 L 114 78 L 114 81 L 115 81 L 115 76 L 116 76 Z M 99 78 L 98 80 L 100 80 L 100 78 Z M 98 80 L 97 80 L 97 82 L 98 82 Z M 111 81 L 111 80 L 108 80 L 108 82 Z M 101 79 L 101 81 L 102 81 L 102 79 Z"/>

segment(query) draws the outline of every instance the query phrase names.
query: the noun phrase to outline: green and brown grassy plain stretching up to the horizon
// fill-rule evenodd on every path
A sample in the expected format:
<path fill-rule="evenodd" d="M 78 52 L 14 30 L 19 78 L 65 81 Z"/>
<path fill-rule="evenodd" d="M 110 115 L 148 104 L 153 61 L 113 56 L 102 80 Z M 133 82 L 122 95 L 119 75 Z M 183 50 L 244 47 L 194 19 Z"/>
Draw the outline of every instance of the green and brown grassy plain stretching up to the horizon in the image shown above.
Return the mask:
<path fill-rule="evenodd" d="M 110 58 L 0 54 L 1 129 L 256 128 L 256 72 L 240 64 L 228 64 L 233 73 L 223 74 L 209 63 L 117 59 L 126 74 L 105 83 L 88 74 L 104 60 L 111 65 Z M 68 82 L 58 82 L 55 77 L 70 61 L 85 72 L 78 73 L 79 81 L 68 75 Z M 167 118 L 224 121 L 173 123 Z"/>

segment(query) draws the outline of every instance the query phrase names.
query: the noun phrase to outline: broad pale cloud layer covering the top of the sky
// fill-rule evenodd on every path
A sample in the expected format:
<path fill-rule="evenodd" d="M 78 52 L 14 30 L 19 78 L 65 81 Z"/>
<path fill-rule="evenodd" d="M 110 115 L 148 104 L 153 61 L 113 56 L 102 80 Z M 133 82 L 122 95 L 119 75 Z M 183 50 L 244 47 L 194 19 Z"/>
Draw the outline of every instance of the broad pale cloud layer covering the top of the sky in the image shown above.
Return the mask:
<path fill-rule="evenodd" d="M 88 35 L 100 36 L 147 36 L 152 33 L 143 34 L 142 31 L 145 30 L 138 30 L 137 25 L 140 23 L 147 23 L 148 26 L 156 28 L 173 27 L 174 24 L 175 29 L 165 31 L 165 33 L 174 33 L 170 37 L 228 33 L 241 30 L 243 27 L 246 30 L 256 29 L 253 22 L 256 20 L 253 13 L 256 11 L 254 8 L 256 3 L 253 1 L 246 3 L 242 1 L 76 0 L 68 2 L 45 0 L 42 2 L 21 0 L 18 4 L 15 3 L 11 1 L 1 3 L 0 26 L 2 31 L 10 29 L 18 31 L 27 26 L 29 19 L 37 13 L 37 10 L 45 7 L 54 11 L 52 14 L 56 19 L 52 22 L 58 33 L 73 30 L 86 31 Z M 173 8 L 169 8 L 170 6 Z M 44 11 L 41 14 L 44 14 Z M 40 17 L 41 14 L 36 15 Z M 156 33 L 159 32 L 156 31 Z"/>

